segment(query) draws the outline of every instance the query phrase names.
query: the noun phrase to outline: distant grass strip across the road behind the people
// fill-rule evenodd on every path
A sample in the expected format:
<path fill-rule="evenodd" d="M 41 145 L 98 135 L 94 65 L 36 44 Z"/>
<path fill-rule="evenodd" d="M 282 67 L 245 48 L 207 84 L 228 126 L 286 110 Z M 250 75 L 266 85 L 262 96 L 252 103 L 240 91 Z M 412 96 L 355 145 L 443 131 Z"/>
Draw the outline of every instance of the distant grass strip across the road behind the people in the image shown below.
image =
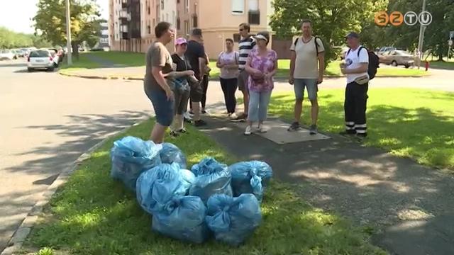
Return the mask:
<path fill-rule="evenodd" d="M 145 56 L 143 53 L 135 52 L 87 52 L 81 53 L 79 61 L 74 61 L 71 67 L 62 66 L 60 72 L 74 72 L 81 68 L 92 69 L 100 67 L 99 63 L 89 60 L 89 56 L 94 56 L 97 59 L 106 60 L 114 64 L 121 64 L 124 67 L 143 67 L 145 64 Z M 333 61 L 326 67 L 326 77 L 341 77 L 341 69 L 339 68 L 340 61 Z M 219 69 L 216 67 L 216 61 L 211 61 L 211 77 L 219 77 Z M 289 77 L 289 60 L 279 60 L 279 69 L 277 70 L 276 78 L 287 79 Z M 380 68 L 377 72 L 377 77 L 422 77 L 428 74 L 423 69 L 404 69 L 404 68 Z M 131 74 L 132 76 L 142 77 L 143 74 Z"/>

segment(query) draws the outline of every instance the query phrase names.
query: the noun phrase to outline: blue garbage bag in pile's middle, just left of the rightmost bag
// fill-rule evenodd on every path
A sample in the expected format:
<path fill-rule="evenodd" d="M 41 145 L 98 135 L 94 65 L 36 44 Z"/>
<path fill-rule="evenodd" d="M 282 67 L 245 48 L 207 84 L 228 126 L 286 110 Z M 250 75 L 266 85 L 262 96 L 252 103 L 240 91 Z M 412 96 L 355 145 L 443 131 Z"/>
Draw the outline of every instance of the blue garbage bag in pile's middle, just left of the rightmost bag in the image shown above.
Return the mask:
<path fill-rule="evenodd" d="M 225 164 L 220 164 L 211 157 L 202 159 L 192 166 L 196 180 L 189 190 L 189 195 L 198 196 L 204 203 L 214 194 L 232 196 L 231 171 Z"/>

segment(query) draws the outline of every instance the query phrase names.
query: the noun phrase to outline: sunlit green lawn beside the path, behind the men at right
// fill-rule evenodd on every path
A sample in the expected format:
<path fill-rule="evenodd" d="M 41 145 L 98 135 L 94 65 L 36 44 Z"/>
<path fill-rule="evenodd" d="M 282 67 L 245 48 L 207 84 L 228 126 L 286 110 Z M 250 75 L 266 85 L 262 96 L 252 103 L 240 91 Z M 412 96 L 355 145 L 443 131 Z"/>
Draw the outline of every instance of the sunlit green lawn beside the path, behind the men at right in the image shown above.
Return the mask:
<path fill-rule="evenodd" d="M 319 93 L 319 127 L 326 132 L 343 130 L 341 89 Z M 270 113 L 293 119 L 293 94 L 274 94 Z M 309 105 L 304 123 L 309 122 Z M 421 164 L 454 170 L 454 94 L 421 89 L 370 88 L 367 101 L 369 137 L 365 144 L 411 157 Z"/>

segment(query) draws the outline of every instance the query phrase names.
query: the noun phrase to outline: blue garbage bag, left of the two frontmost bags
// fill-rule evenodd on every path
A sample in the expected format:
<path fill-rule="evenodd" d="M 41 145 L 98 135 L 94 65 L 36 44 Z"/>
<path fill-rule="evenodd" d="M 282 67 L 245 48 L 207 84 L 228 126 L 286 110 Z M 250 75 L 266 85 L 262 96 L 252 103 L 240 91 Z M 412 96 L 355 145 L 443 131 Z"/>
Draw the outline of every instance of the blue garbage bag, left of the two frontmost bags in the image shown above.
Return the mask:
<path fill-rule="evenodd" d="M 152 229 L 167 237 L 201 244 L 210 233 L 205 217 L 206 207 L 199 197 L 175 197 L 153 215 Z"/>

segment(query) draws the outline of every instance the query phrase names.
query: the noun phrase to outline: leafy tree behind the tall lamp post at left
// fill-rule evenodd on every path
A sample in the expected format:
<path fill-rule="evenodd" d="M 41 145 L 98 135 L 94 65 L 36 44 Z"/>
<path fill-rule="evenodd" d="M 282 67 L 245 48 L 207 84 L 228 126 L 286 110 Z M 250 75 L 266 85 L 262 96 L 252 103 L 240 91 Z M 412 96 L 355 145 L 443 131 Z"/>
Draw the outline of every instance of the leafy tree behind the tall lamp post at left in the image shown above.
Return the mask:
<path fill-rule="evenodd" d="M 99 6 L 95 0 L 71 0 L 70 6 L 72 51 L 77 56 L 79 44 L 90 44 L 99 37 Z M 55 45 L 66 44 L 65 0 L 39 0 L 33 21 L 43 38 Z"/>

